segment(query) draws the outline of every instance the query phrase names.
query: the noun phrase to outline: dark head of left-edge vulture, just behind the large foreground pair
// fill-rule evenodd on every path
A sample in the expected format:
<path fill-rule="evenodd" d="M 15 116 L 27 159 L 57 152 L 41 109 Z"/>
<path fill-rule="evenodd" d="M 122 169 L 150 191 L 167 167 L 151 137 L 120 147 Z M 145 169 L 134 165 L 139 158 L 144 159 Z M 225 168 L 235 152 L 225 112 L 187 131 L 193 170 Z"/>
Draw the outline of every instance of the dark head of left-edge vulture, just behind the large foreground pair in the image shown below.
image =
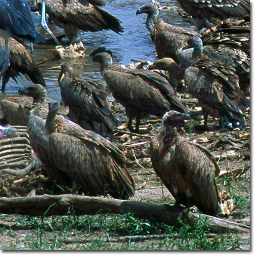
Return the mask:
<path fill-rule="evenodd" d="M 43 102 L 47 97 L 47 91 L 43 86 L 41 86 L 41 84 L 31 84 L 26 88 L 19 89 L 18 93 L 20 95 L 32 97 L 34 99 L 33 104 Z"/>

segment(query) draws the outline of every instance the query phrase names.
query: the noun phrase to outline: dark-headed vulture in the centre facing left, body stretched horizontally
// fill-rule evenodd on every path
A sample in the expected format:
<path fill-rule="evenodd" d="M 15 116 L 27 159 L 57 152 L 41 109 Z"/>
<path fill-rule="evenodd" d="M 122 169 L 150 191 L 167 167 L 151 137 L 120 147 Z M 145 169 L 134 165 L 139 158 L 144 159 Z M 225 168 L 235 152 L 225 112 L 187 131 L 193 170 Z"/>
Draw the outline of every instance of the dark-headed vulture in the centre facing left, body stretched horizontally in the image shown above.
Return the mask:
<path fill-rule="evenodd" d="M 174 89 L 159 74 L 144 69 L 126 69 L 112 64 L 112 52 L 99 47 L 91 52 L 94 62 L 101 64 L 100 71 L 114 99 L 126 108 L 129 117 L 137 119 L 135 132 L 139 132 L 140 119 L 149 115 L 161 117 L 165 112 L 177 110 L 187 112 L 186 107 L 174 96 Z"/>

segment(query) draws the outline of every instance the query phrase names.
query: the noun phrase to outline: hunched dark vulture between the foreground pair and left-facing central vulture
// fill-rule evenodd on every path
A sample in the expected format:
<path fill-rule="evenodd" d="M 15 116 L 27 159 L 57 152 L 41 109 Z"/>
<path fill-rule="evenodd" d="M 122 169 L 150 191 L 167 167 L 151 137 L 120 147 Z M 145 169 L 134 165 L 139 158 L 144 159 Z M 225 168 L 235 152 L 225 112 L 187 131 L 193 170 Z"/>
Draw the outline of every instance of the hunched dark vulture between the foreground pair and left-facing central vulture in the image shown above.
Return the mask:
<path fill-rule="evenodd" d="M 90 79 L 74 79 L 74 67 L 63 64 L 58 82 L 62 101 L 69 107 L 69 119 L 84 129 L 112 137 L 117 119 L 111 112 L 106 87 Z"/>

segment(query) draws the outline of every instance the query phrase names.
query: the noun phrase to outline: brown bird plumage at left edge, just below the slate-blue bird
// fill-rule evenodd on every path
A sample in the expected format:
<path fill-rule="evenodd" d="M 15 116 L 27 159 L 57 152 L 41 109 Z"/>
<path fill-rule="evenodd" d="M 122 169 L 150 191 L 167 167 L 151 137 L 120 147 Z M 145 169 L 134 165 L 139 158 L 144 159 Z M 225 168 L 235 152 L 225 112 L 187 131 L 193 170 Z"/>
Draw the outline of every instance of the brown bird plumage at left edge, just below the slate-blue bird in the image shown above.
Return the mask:
<path fill-rule="evenodd" d="M 4 39 L 2 37 L 0 37 L 0 44 L 5 51 Z M 19 73 L 31 79 L 35 84 L 46 86 L 42 72 L 26 47 L 17 42 L 14 38 L 10 38 L 8 44 L 10 66 L 2 76 L 2 91 L 5 91 L 6 84 L 10 77 L 16 81 L 16 77 Z"/>

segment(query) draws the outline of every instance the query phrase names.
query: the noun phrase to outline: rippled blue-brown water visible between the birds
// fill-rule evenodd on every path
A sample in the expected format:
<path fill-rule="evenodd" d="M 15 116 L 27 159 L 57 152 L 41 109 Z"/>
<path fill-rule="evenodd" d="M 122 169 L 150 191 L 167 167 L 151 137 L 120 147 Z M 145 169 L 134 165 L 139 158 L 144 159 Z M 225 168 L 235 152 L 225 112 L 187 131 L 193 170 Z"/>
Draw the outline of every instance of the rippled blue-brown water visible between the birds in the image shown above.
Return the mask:
<path fill-rule="evenodd" d="M 114 52 L 114 64 L 129 64 L 131 59 L 139 59 L 145 61 L 155 60 L 154 44 L 150 41 L 149 32 L 145 28 L 146 14 L 136 16 L 136 11 L 140 6 L 145 4 L 147 0 L 106 0 L 106 6 L 103 7 L 106 11 L 111 12 L 114 16 L 122 21 L 124 32 L 122 35 L 116 34 L 112 31 L 101 32 L 80 32 L 77 41 L 82 41 L 86 47 L 86 54 L 89 54 L 98 46 L 106 46 Z M 182 19 L 176 11 L 179 4 L 175 0 L 160 1 L 161 6 L 172 6 L 172 9 L 160 11 L 160 17 L 170 24 L 178 26 L 190 27 L 189 22 Z M 51 38 L 47 32 L 42 29 L 40 24 L 40 16 L 33 14 L 34 22 L 36 24 L 37 32 L 42 36 Z M 63 34 L 62 29 L 50 24 L 49 27 L 54 34 Z M 47 84 L 48 97 L 61 100 L 60 90 L 57 83 L 57 76 L 59 69 L 54 68 L 61 64 L 61 61 L 53 60 L 52 53 L 49 49 L 54 49 L 55 46 L 34 46 L 34 57 L 37 62 L 44 59 L 50 61 L 41 64 L 40 68 Z M 51 60 L 52 59 L 52 60 Z M 87 56 L 73 61 L 75 64 L 76 74 L 81 78 L 96 79 L 102 81 L 99 73 L 99 64 L 92 62 L 91 57 Z M 19 86 L 27 86 L 31 82 L 27 81 L 25 77 L 18 78 Z M 6 96 L 17 95 L 19 89 L 16 82 L 10 79 L 6 86 Z M 0 98 L 4 97 L 1 95 Z"/>

